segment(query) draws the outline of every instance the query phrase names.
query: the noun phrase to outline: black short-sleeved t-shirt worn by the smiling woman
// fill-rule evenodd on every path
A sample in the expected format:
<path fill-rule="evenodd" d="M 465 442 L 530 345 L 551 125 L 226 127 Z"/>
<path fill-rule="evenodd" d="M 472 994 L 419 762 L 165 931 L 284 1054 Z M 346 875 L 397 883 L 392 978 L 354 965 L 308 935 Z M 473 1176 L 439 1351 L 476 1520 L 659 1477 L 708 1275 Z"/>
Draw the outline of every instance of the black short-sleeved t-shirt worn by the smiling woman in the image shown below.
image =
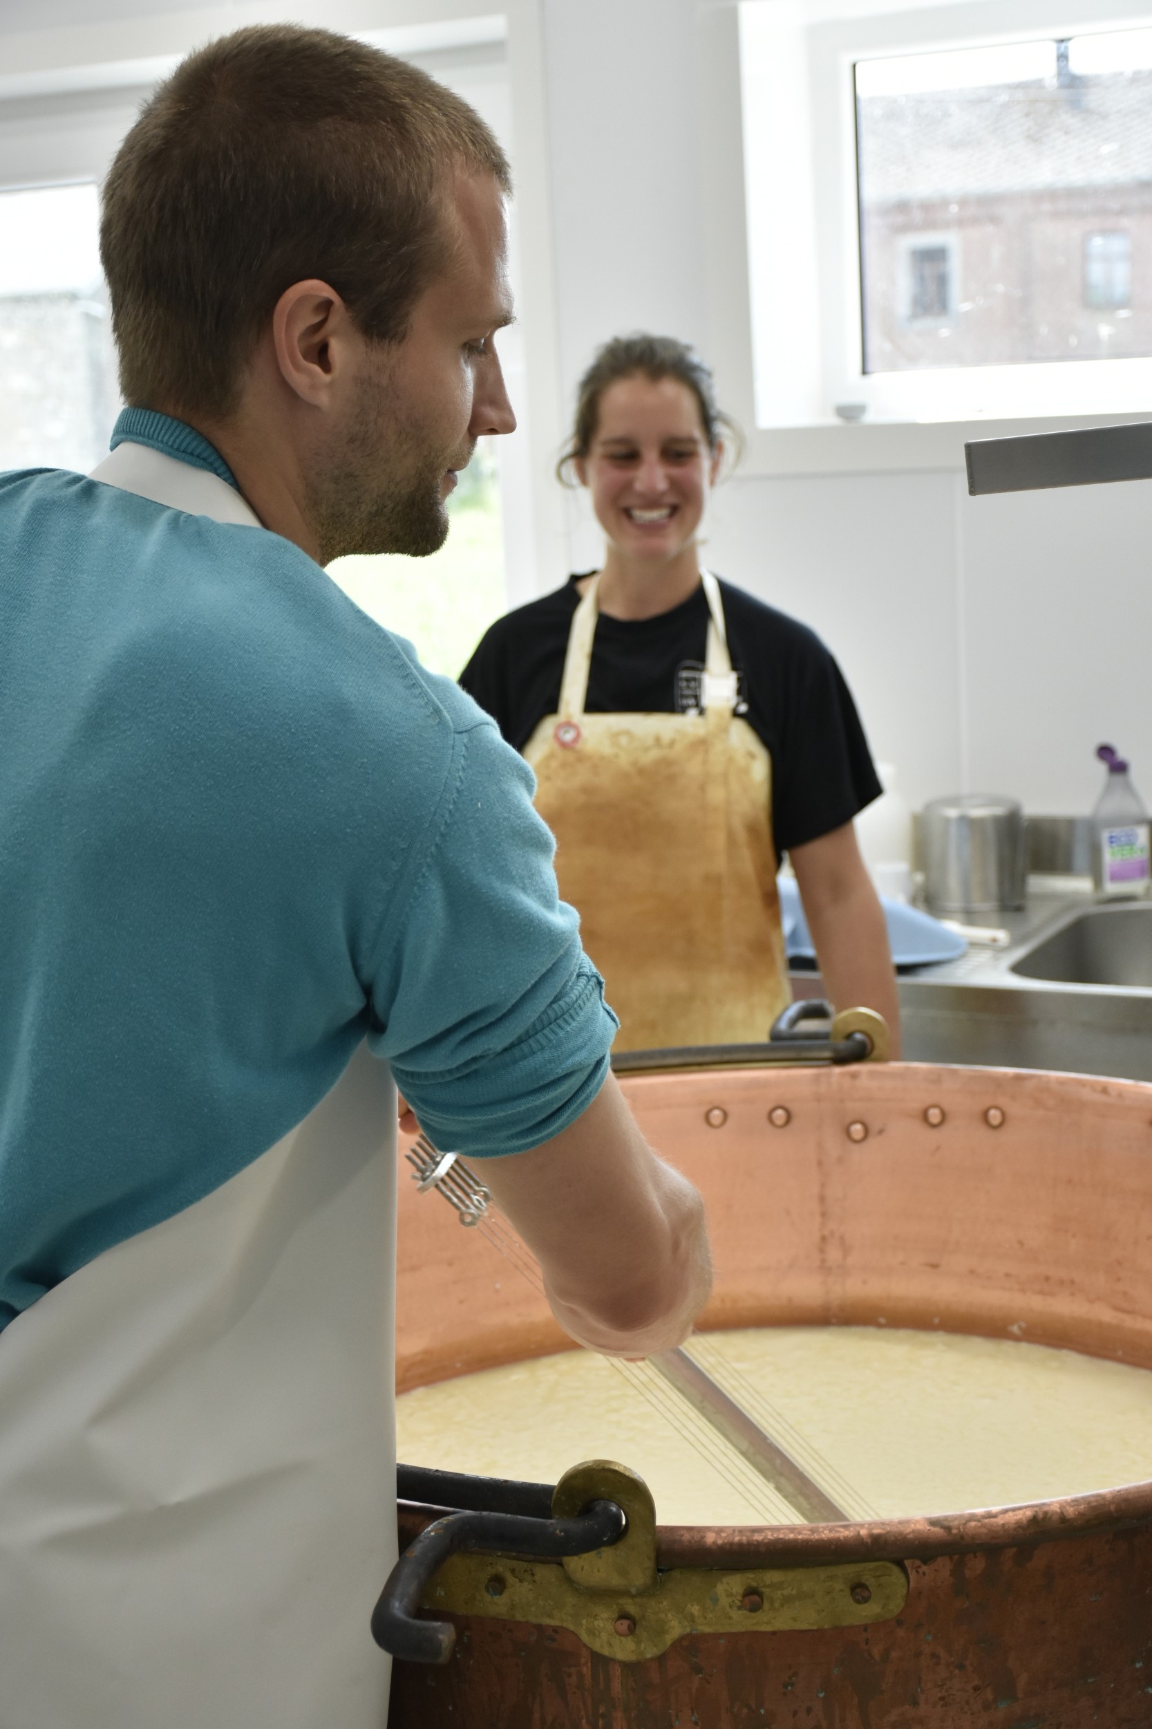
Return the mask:
<path fill-rule="evenodd" d="M 560 705 L 579 576 L 504 614 L 484 635 L 459 683 L 523 750 Z M 772 757 L 777 852 L 819 840 L 877 799 L 881 783 L 843 673 L 820 638 L 720 583 L 743 718 Z M 677 714 L 699 704 L 708 636 L 703 586 L 655 619 L 596 621 L 585 707 L 591 714 Z"/>

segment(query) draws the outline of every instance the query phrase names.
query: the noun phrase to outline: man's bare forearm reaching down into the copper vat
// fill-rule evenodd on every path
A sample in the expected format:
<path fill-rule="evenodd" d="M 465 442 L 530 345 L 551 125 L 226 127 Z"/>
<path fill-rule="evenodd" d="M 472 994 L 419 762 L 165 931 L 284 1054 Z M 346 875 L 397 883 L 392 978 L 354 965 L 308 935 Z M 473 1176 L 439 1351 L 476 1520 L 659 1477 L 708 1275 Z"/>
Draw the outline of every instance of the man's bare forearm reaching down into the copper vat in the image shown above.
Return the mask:
<path fill-rule="evenodd" d="M 485 1158 L 482 1177 L 579 1343 L 644 1357 L 687 1338 L 712 1290 L 703 1202 L 644 1143 L 611 1075 L 561 1134 Z"/>

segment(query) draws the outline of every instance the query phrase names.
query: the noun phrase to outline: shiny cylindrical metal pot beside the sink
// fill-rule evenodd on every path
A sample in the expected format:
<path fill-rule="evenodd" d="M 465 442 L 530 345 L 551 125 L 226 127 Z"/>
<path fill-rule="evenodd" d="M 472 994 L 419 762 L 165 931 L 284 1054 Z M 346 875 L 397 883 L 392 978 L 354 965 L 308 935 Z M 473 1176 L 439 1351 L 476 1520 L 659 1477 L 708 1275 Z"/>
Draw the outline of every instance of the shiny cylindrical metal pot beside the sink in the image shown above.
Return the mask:
<path fill-rule="evenodd" d="M 924 897 L 933 913 L 1002 913 L 1024 904 L 1024 811 L 971 792 L 933 799 L 921 818 Z"/>

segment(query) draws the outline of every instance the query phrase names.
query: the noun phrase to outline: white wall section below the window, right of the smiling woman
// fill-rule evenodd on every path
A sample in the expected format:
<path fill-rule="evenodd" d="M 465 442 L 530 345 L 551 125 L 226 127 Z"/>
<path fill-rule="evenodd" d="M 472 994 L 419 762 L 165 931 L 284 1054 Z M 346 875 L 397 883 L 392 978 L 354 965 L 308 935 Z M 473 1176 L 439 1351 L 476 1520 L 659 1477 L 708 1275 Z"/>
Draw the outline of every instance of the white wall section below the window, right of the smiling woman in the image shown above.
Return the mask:
<path fill-rule="evenodd" d="M 1152 484 L 969 498 L 953 474 L 734 481 L 710 562 L 834 648 L 914 804 L 1079 813 L 1095 745 L 1152 801 Z"/>

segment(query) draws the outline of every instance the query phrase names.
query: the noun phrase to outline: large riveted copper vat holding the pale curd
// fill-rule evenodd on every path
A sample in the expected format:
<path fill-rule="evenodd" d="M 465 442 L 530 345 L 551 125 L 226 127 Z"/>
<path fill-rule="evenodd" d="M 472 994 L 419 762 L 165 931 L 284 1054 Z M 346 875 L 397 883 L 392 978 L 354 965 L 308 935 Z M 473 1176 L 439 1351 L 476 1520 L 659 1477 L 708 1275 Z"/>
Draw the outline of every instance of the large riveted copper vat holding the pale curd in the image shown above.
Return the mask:
<path fill-rule="evenodd" d="M 1152 1368 L 1152 1086 L 867 1063 L 623 1088 L 706 1196 L 705 1328 L 888 1323 Z M 478 1233 L 402 1181 L 397 1343 L 404 1392 L 567 1340 Z M 402 1504 L 402 1541 L 428 1516 Z M 687 1634 L 639 1663 L 461 1617 L 446 1667 L 394 1667 L 390 1729 L 1152 1726 L 1152 1482 L 941 1518 L 658 1527 L 656 1554 L 884 1558 L 910 1591 L 870 1627 Z"/>

